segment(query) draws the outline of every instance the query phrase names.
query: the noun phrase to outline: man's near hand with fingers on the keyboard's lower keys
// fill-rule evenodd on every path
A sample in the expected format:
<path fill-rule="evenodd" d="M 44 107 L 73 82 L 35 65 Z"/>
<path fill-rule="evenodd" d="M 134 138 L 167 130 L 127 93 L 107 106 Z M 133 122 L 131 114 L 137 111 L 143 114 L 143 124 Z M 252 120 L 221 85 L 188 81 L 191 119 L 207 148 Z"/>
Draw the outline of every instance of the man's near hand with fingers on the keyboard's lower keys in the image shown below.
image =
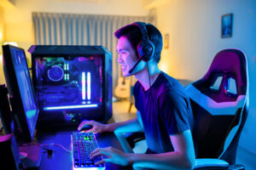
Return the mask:
<path fill-rule="evenodd" d="M 90 159 L 93 159 L 96 156 L 106 156 L 107 158 L 102 159 L 102 161 L 95 162 L 96 165 L 102 164 L 104 162 L 111 162 L 114 164 L 118 164 L 121 166 L 127 166 L 131 164 L 131 161 L 129 159 L 129 154 L 117 150 L 113 147 L 107 147 L 107 148 L 97 148 L 96 150 L 93 150 L 90 153 Z"/>

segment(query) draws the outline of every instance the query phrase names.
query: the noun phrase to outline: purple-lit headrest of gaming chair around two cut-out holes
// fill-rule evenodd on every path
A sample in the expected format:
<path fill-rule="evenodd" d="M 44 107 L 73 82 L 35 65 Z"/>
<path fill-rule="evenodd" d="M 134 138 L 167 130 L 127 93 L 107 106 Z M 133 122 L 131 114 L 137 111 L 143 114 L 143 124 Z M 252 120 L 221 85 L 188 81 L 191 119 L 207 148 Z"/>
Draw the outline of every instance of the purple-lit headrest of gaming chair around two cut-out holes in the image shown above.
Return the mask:
<path fill-rule="evenodd" d="M 211 86 L 220 78 L 218 92 L 212 93 Z M 231 78 L 230 78 L 231 77 Z M 227 96 L 226 85 L 228 79 L 236 84 L 236 95 L 233 99 Z M 219 82 L 219 83 L 220 83 Z M 229 82 L 232 82 L 229 80 Z M 239 95 L 247 94 L 247 59 L 246 55 L 239 49 L 224 49 L 215 55 L 207 74 L 199 81 L 194 82 L 195 88 L 218 102 L 236 100 Z"/>

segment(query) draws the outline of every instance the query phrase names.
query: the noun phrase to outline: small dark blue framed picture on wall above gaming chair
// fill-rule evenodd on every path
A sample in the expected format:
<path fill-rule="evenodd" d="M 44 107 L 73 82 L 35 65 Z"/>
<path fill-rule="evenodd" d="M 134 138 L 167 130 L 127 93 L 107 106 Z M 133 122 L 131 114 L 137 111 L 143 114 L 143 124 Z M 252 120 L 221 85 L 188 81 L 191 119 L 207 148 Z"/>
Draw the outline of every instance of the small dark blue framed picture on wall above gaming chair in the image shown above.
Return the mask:
<path fill-rule="evenodd" d="M 232 37 L 233 14 L 221 16 L 221 37 Z"/>

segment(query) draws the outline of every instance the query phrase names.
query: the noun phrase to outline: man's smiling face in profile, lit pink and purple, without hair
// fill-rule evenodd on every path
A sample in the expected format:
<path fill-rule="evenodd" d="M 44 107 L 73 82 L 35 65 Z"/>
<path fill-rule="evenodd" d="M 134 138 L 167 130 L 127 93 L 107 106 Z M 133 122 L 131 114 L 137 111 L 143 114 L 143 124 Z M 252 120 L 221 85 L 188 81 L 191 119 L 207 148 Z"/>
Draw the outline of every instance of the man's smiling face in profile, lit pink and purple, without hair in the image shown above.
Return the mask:
<path fill-rule="evenodd" d="M 138 58 L 136 51 L 131 47 L 131 43 L 126 37 L 119 37 L 118 44 L 116 46 L 116 51 L 119 54 L 118 62 L 122 68 L 123 76 L 131 76 L 129 71 L 136 64 Z"/>

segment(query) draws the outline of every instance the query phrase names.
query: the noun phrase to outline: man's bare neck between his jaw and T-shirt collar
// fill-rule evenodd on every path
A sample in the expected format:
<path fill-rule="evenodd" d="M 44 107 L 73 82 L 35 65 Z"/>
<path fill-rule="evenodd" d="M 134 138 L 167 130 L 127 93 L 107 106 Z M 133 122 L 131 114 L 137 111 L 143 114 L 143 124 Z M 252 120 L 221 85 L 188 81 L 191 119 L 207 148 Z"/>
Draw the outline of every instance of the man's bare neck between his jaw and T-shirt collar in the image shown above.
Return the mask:
<path fill-rule="evenodd" d="M 149 68 L 149 73 L 148 73 L 148 68 Z M 148 74 L 150 75 L 150 84 L 149 84 Z M 144 91 L 147 91 L 150 88 L 150 86 L 152 86 L 152 84 L 155 82 L 156 78 L 159 75 L 160 75 L 160 70 L 157 64 L 148 62 L 148 65 L 146 65 L 142 71 L 138 72 L 134 76 L 143 85 Z"/>

